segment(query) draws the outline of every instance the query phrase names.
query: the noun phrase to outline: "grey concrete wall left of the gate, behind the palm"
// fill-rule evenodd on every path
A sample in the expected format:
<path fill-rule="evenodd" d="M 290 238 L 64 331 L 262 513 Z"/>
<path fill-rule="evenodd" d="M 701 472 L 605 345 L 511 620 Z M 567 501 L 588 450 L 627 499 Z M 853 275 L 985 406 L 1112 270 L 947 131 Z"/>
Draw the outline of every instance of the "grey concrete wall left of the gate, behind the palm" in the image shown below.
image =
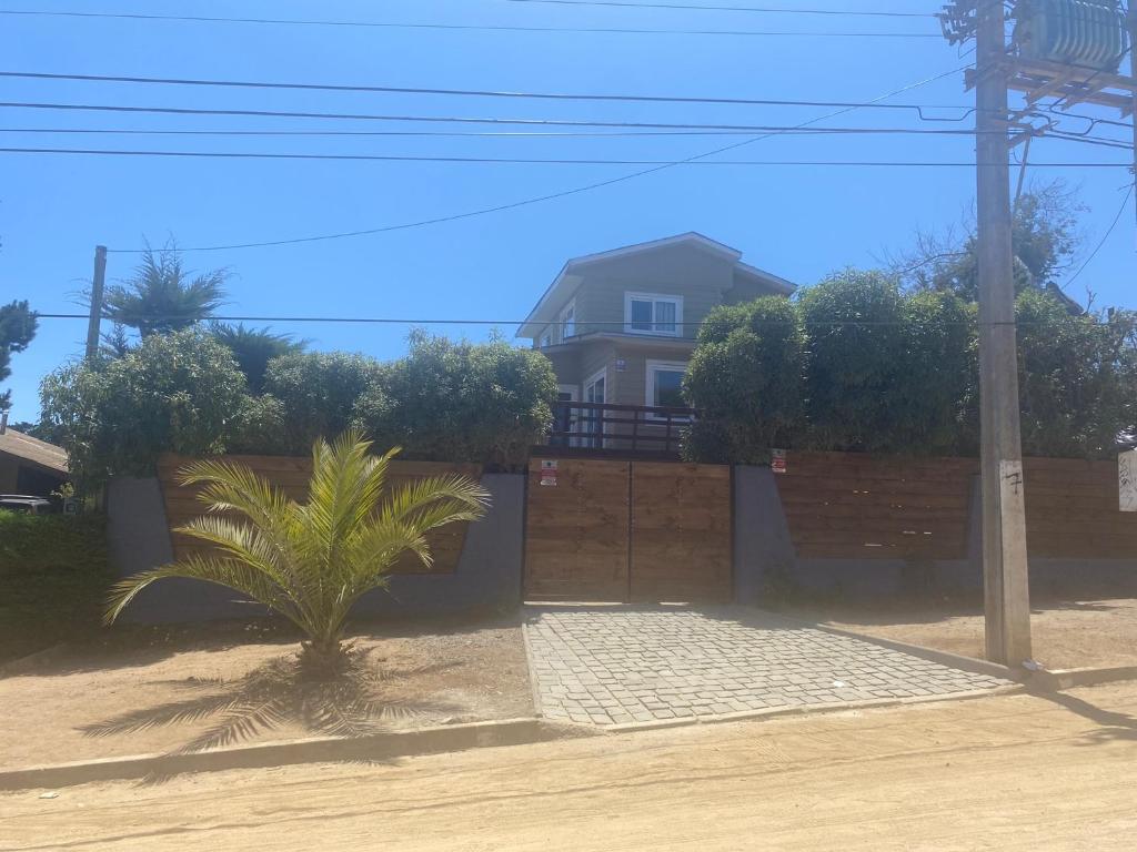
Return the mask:
<path fill-rule="evenodd" d="M 388 590 L 365 595 L 356 604 L 356 615 L 439 615 L 508 610 L 520 604 L 525 477 L 485 474 L 482 486 L 490 492 L 492 506 L 482 520 L 470 525 L 454 574 L 396 575 Z M 157 479 L 114 479 L 107 512 L 110 556 L 121 576 L 173 560 Z M 149 624 L 264 613 L 259 604 L 221 586 L 164 579 L 139 595 L 123 617 Z"/>

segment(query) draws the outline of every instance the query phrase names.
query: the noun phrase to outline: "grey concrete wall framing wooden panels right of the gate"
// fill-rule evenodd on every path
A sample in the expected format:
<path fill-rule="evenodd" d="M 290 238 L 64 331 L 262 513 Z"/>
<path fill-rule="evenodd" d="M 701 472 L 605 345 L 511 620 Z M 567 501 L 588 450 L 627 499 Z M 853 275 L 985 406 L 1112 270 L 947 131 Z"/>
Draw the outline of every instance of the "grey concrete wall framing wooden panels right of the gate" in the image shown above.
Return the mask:
<path fill-rule="evenodd" d="M 802 559 L 790 540 L 775 482 L 766 468 L 735 468 L 735 600 L 762 605 L 779 587 L 805 596 L 871 601 L 894 596 L 977 596 L 982 593 L 979 479 L 971 488 L 968 557 L 958 560 Z M 1038 596 L 1135 596 L 1132 559 L 1030 559 Z"/>

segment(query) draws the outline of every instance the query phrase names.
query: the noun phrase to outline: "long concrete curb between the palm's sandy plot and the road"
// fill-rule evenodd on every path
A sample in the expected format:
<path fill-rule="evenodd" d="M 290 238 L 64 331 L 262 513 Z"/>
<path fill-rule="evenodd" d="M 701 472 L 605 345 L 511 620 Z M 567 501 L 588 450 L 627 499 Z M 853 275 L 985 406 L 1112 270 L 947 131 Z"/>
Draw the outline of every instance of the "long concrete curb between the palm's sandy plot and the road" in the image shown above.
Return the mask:
<path fill-rule="evenodd" d="M 572 725 L 541 719 L 503 719 L 445 725 L 362 737 L 312 737 L 190 754 L 138 754 L 0 770 L 0 790 L 66 787 L 103 780 L 160 779 L 182 772 L 256 769 L 297 763 L 381 761 L 416 754 L 594 736 Z"/>

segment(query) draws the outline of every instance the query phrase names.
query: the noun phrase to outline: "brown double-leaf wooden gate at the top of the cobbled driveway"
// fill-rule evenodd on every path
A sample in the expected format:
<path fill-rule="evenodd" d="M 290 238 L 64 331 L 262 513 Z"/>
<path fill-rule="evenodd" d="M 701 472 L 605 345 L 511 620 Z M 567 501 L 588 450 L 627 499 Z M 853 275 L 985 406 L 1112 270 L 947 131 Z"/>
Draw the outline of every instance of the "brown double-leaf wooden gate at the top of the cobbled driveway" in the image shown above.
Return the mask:
<path fill-rule="evenodd" d="M 545 461 L 530 462 L 526 600 L 730 600 L 730 468 Z"/>

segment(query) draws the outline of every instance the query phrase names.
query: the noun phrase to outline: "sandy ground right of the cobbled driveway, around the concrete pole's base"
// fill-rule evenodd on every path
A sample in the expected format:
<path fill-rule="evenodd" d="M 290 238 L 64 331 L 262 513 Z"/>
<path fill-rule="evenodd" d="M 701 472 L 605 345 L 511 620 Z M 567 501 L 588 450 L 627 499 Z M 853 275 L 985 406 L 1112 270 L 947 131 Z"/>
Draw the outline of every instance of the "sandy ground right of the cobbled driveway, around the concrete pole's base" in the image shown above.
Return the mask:
<path fill-rule="evenodd" d="M 982 658 L 981 605 L 963 608 L 825 607 L 785 610 L 870 636 Z M 1035 659 L 1048 669 L 1137 665 L 1137 600 L 1036 603 Z"/>

